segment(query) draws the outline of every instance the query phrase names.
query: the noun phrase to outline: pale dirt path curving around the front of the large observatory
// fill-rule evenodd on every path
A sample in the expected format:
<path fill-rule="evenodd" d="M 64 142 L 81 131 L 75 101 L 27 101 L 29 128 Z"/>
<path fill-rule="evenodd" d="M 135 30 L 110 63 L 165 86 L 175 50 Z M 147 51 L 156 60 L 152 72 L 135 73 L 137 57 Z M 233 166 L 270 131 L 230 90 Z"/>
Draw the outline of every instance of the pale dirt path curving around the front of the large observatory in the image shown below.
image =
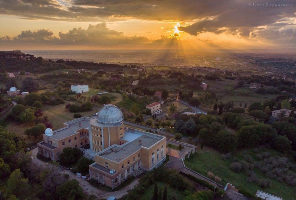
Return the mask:
<path fill-rule="evenodd" d="M 38 153 L 38 148 L 33 149 L 31 152 L 33 154 L 33 156 L 32 156 L 33 162 L 35 162 L 36 164 L 41 165 L 41 166 L 50 165 L 50 163 L 43 162 L 43 161 L 39 160 L 38 158 L 36 158 L 36 155 Z M 95 196 L 98 196 L 98 194 L 103 194 L 102 195 L 103 199 L 107 199 L 109 196 L 115 196 L 115 198 L 118 199 L 118 198 L 122 197 L 123 195 L 128 194 L 128 190 L 133 189 L 135 186 L 137 186 L 139 184 L 139 178 L 136 178 L 131 184 L 129 184 L 128 186 L 124 187 L 121 190 L 107 192 L 107 191 L 100 190 L 98 188 L 93 187 L 91 184 L 89 184 L 89 182 L 87 182 L 86 180 L 84 180 L 82 178 L 78 178 L 76 176 L 76 174 L 74 174 L 70 171 L 64 170 L 64 171 L 61 171 L 61 173 L 68 174 L 70 176 L 70 179 L 75 178 L 79 182 L 79 185 L 83 188 L 83 191 L 85 193 L 87 193 L 89 195 L 95 195 Z"/>

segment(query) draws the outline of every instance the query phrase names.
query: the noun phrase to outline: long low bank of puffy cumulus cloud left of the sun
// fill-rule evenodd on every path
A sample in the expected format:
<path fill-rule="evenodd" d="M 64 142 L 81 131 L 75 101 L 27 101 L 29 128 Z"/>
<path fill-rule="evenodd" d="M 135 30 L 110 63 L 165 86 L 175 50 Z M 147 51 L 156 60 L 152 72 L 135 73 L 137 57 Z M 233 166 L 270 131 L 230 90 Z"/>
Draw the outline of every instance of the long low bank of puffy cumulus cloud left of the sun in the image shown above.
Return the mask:
<path fill-rule="evenodd" d="M 89 25 L 87 29 L 73 28 L 68 32 L 59 32 L 55 37 L 50 30 L 26 30 L 16 37 L 4 36 L 0 38 L 0 44 L 49 44 L 49 45 L 76 45 L 94 47 L 118 47 L 118 46 L 153 46 L 161 43 L 176 44 L 176 39 L 162 36 L 159 40 L 149 40 L 143 36 L 125 36 L 123 32 L 110 30 L 105 22 L 97 25 Z"/>

